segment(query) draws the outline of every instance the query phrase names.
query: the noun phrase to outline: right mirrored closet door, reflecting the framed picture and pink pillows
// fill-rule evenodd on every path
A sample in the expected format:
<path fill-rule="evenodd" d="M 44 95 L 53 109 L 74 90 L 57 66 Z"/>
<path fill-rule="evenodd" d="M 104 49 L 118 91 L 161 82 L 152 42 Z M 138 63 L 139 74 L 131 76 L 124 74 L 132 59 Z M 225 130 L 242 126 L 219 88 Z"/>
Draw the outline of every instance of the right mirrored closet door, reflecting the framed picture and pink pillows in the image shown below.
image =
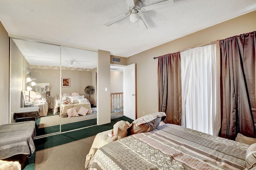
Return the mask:
<path fill-rule="evenodd" d="M 97 67 L 97 55 L 97 51 L 61 46 L 62 132 L 97 124 L 97 113 L 91 109 L 95 93 L 85 91 L 88 86 L 96 90 L 92 70 Z"/>

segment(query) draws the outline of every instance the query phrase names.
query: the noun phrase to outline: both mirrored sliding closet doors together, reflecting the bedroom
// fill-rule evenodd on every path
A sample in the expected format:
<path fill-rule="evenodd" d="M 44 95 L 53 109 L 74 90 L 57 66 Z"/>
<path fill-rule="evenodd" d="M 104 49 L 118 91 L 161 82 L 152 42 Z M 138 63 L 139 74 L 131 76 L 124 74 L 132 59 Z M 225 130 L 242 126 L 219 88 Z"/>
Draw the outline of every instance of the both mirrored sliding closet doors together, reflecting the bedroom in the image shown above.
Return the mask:
<path fill-rule="evenodd" d="M 91 110 L 95 93 L 97 51 L 11 38 L 10 120 L 22 107 L 38 106 L 36 136 L 96 125 Z M 90 101 L 89 101 L 90 99 Z M 75 109 L 73 115 L 67 112 Z M 87 111 L 87 112 L 86 112 Z"/>

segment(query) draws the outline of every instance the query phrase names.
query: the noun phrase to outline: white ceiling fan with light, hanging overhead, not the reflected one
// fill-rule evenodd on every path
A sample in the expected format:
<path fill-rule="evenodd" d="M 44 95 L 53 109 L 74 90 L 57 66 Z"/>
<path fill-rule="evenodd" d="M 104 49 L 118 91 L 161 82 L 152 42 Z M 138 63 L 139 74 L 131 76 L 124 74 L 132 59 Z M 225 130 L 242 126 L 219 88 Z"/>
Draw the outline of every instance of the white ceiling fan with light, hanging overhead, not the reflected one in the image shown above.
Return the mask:
<path fill-rule="evenodd" d="M 140 0 L 125 0 L 125 2 L 126 2 L 126 5 L 128 6 L 129 13 L 122 14 L 121 16 L 118 16 L 118 17 L 116 17 L 116 18 L 114 18 L 114 19 L 112 19 L 108 22 L 105 22 L 104 23 L 105 26 L 110 26 L 110 25 L 126 18 L 127 16 L 129 16 L 130 22 L 136 23 L 141 18 L 141 16 L 138 14 L 139 12 L 146 12 L 146 11 L 149 11 L 149 10 L 155 10 L 157 8 L 162 8 L 162 7 L 165 7 L 165 6 L 169 6 L 170 4 L 173 4 L 173 0 L 166 0 L 166 1 L 163 1 L 163 2 L 158 2 L 156 4 L 141 7 L 142 3 L 140 2 Z M 142 20 L 142 18 L 141 18 L 141 20 Z M 146 24 L 143 20 L 142 20 L 142 22 L 146 26 Z M 146 26 L 146 28 L 147 28 L 147 26 Z"/>

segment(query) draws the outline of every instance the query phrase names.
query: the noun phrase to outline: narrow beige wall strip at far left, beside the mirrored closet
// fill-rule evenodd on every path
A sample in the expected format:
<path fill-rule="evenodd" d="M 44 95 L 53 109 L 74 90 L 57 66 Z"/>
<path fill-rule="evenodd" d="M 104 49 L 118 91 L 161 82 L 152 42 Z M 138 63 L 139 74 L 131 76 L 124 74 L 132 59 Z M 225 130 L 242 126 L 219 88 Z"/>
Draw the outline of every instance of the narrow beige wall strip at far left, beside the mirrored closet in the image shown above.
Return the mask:
<path fill-rule="evenodd" d="M 9 122 L 9 37 L 0 22 L 0 125 Z"/>

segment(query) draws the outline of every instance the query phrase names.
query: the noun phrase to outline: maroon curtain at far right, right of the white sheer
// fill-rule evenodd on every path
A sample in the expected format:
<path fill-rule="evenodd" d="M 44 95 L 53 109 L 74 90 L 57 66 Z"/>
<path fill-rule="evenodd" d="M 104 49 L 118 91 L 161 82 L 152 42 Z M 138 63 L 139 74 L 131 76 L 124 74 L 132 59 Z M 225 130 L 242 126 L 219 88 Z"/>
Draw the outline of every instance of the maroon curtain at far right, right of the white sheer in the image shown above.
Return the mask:
<path fill-rule="evenodd" d="M 256 32 L 220 40 L 221 128 L 219 136 L 256 136 Z"/>

